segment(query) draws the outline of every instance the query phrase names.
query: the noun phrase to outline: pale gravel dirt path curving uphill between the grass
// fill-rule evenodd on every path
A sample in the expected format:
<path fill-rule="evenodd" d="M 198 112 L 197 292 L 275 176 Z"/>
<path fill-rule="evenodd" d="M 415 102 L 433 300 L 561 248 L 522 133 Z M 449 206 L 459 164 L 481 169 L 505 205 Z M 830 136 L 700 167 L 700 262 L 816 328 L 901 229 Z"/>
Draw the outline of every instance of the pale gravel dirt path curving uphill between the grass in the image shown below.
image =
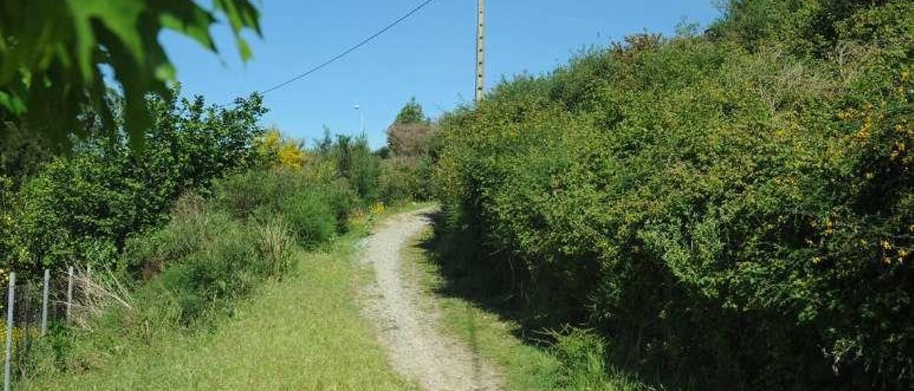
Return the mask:
<path fill-rule="evenodd" d="M 364 262 L 375 269 L 367 287 L 368 317 L 394 368 L 429 390 L 501 389 L 492 365 L 462 343 L 439 333 L 436 314 L 415 281 L 401 272 L 400 250 L 430 224 L 430 209 L 390 217 L 365 243 Z"/>

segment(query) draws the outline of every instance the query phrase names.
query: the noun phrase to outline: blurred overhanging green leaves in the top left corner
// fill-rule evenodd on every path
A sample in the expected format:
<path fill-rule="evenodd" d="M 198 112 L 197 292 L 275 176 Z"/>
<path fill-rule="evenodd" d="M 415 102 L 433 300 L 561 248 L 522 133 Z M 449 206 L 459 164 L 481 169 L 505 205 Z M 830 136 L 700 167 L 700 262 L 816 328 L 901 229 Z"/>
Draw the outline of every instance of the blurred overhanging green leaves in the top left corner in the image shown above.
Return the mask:
<path fill-rule="evenodd" d="M 219 16 L 249 59 L 241 33 L 260 35 L 249 0 L 213 0 L 211 10 L 194 0 L 0 0 L 0 121 L 25 120 L 30 132 L 66 145 L 70 135 L 84 135 L 80 122 L 100 121 L 113 133 L 105 99 L 112 85 L 102 73 L 111 69 L 124 98 L 123 127 L 138 148 L 153 124 L 147 95 L 167 96 L 175 80 L 160 33 L 175 31 L 216 52 L 209 29 Z"/>

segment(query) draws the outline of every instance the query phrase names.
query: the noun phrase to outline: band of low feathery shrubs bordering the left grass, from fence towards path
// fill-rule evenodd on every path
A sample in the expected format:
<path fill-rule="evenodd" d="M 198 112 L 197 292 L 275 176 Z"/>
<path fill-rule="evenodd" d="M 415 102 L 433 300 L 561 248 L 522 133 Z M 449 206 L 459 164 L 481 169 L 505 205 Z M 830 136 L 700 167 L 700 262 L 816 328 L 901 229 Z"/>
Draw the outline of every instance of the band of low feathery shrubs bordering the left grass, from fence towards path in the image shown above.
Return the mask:
<path fill-rule="evenodd" d="M 249 170 L 220 179 L 211 196 L 182 196 L 167 225 L 134 235 L 117 256 L 111 276 L 128 288 L 115 292 L 121 301 L 102 302 L 86 328 L 53 331 L 27 365 L 42 365 L 43 375 L 79 373 L 116 359 L 122 345 L 199 333 L 232 316 L 240 298 L 292 269 L 300 244 L 335 235 L 339 204 L 331 197 L 354 192 L 315 177 Z"/>

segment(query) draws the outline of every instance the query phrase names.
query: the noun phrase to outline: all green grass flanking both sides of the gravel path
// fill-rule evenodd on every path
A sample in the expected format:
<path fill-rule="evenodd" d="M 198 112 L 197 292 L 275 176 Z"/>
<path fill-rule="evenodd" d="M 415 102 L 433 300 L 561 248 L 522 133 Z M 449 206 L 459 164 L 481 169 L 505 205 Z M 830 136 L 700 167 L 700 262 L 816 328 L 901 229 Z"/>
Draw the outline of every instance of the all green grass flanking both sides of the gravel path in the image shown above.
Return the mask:
<path fill-rule="evenodd" d="M 390 207 L 377 221 L 428 206 L 431 204 Z M 60 390 L 417 389 L 392 370 L 371 325 L 361 315 L 356 290 L 371 279 L 371 272 L 356 261 L 356 243 L 365 233 L 360 229 L 318 251 L 297 251 L 297 266 L 284 280 L 261 286 L 239 301 L 232 316 L 212 322 L 209 331 L 156 333 L 153 341 L 143 343 L 127 340 L 122 346 L 102 350 L 107 354 L 88 357 L 90 369 L 38 376 L 16 386 Z M 404 248 L 404 270 L 429 293 L 428 304 L 441 311 L 443 332 L 497 365 L 508 389 L 647 389 L 631 377 L 607 375 L 602 368 L 593 371 L 587 360 L 572 360 L 569 365 L 568 360 L 559 359 L 579 352 L 591 354 L 587 340 L 559 339 L 572 349 L 556 354 L 518 338 L 515 322 L 476 301 L 440 293 L 444 283 L 440 266 L 431 261 L 430 250 L 423 248 L 431 235 L 428 229 Z M 120 341 L 99 335 L 96 339 L 93 343 Z"/>

